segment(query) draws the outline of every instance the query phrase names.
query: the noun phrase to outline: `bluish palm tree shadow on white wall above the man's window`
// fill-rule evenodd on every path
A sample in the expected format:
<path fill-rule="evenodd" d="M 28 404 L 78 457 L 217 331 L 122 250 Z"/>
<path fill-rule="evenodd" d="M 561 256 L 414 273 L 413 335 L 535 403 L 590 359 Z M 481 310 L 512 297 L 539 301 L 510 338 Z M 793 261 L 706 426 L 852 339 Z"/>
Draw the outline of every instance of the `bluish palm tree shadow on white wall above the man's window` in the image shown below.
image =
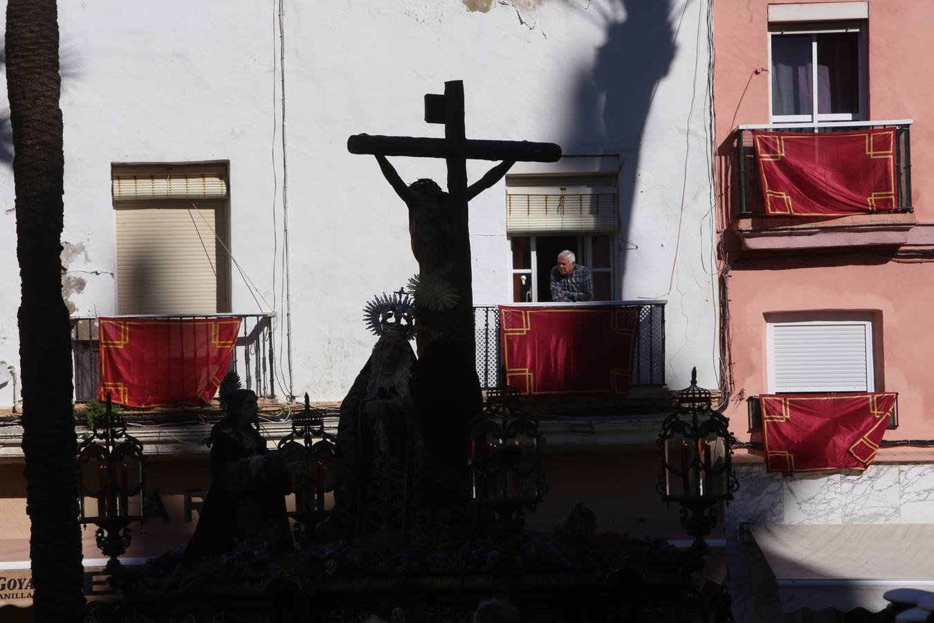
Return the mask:
<path fill-rule="evenodd" d="M 686 0 L 682 11 L 695 4 Z M 683 17 L 682 11 L 674 20 Z M 606 41 L 592 71 L 580 78 L 571 134 L 562 145 L 567 154 L 619 153 L 619 233 L 627 239 L 645 123 L 658 82 L 668 75 L 674 57 L 672 1 L 610 0 L 593 3 L 582 14 L 599 21 Z M 619 275 L 625 274 L 625 262 L 621 255 Z"/>

